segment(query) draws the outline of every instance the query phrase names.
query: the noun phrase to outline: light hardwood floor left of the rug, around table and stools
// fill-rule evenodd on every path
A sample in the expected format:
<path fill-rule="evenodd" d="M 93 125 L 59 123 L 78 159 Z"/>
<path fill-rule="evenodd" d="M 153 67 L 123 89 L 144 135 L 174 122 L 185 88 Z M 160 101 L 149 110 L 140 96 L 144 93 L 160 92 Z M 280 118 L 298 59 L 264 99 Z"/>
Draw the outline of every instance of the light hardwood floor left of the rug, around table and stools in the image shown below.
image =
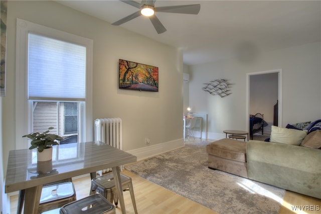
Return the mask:
<path fill-rule="evenodd" d="M 127 170 L 124 170 L 122 173 L 132 179 L 138 213 L 216 213 L 203 205 L 149 182 Z M 91 182 L 89 175 L 74 179 L 73 182 L 77 199 L 89 194 Z M 134 213 L 129 191 L 123 192 L 123 195 L 126 213 Z M 16 213 L 18 196 L 11 196 L 10 201 L 11 213 Z M 121 213 L 119 205 L 116 208 L 116 213 Z"/>

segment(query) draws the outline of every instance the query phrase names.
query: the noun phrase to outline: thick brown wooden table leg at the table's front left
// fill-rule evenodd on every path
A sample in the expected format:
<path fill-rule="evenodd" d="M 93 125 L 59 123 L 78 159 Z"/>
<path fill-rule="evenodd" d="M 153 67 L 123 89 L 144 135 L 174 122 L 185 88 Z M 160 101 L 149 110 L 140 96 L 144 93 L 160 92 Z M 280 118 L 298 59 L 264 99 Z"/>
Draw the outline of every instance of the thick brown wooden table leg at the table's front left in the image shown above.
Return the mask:
<path fill-rule="evenodd" d="M 26 189 L 25 194 L 25 214 L 39 213 L 39 201 L 41 196 L 42 185 Z"/>

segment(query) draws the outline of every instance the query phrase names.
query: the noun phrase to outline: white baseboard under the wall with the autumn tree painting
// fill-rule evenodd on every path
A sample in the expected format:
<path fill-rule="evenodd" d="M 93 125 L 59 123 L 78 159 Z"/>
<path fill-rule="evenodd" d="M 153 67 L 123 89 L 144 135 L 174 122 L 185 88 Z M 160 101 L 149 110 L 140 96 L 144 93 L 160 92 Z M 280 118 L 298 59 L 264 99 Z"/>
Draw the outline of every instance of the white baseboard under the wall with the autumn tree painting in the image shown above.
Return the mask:
<path fill-rule="evenodd" d="M 152 146 L 146 146 L 139 149 L 133 149 L 126 152 L 128 152 L 129 154 L 135 155 L 137 157 L 137 161 L 139 161 L 139 160 L 143 160 L 143 159 L 146 159 L 155 155 L 159 155 L 181 147 L 184 147 L 183 138 L 175 141 L 152 145 Z"/>

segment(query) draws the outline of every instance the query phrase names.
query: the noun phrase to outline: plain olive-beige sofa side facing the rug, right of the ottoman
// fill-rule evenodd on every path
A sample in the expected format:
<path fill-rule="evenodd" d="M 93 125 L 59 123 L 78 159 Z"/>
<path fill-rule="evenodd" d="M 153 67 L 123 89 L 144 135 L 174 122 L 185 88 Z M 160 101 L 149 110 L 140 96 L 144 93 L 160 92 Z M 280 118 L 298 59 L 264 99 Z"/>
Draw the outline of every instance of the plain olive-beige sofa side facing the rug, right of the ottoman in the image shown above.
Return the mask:
<path fill-rule="evenodd" d="M 321 149 L 280 143 L 246 143 L 248 178 L 321 198 Z"/>

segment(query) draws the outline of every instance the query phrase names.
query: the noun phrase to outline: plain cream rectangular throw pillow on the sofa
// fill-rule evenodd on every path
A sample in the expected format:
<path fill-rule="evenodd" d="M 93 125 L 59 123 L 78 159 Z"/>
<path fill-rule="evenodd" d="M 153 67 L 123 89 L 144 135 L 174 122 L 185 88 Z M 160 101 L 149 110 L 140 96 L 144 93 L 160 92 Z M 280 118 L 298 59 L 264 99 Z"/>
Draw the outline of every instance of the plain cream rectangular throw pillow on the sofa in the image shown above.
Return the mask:
<path fill-rule="evenodd" d="M 300 145 L 307 134 L 307 130 L 286 129 L 271 126 L 270 142 Z"/>

